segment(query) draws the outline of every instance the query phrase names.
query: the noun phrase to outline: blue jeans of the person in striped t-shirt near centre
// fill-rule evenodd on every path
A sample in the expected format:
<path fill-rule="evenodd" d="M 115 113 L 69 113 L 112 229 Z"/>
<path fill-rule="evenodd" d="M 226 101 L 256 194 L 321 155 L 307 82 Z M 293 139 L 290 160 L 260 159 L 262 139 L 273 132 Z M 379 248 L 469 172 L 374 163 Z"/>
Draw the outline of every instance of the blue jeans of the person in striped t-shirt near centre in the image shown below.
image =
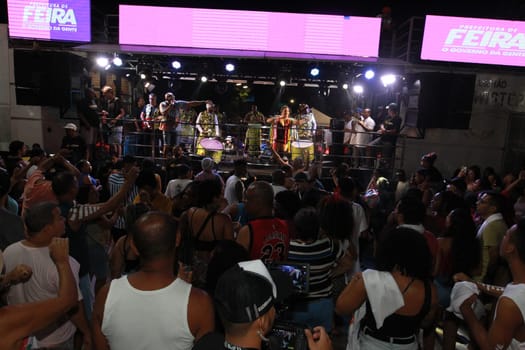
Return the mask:
<path fill-rule="evenodd" d="M 327 332 L 332 330 L 334 300 L 332 297 L 296 302 L 286 313 L 286 319 L 303 323 L 310 328 L 323 326 Z"/>

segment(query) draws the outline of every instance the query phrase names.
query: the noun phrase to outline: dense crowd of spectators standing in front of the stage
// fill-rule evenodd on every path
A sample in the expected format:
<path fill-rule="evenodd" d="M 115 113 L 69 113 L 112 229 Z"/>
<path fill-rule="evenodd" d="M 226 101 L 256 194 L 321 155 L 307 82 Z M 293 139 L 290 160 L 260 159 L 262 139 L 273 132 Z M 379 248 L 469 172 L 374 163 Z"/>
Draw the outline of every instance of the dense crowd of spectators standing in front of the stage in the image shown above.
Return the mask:
<path fill-rule="evenodd" d="M 341 332 L 351 349 L 433 349 L 436 327 L 444 349 L 462 327 L 482 349 L 525 342 L 525 171 L 443 176 L 428 153 L 360 184 L 274 149 L 264 181 L 244 158 L 194 169 L 179 146 L 168 171 L 126 155 L 93 174 L 65 129 L 55 155 L 13 141 L 2 159 L 2 348 L 260 349 L 283 320 L 310 349 Z M 278 263 L 307 265 L 308 288 Z"/>

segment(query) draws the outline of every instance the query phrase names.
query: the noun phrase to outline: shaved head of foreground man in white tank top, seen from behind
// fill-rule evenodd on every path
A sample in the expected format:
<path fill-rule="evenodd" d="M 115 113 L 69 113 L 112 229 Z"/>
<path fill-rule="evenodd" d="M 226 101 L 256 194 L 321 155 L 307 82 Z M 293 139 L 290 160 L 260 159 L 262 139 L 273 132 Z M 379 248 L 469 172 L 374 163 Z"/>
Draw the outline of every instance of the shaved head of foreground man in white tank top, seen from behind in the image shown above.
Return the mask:
<path fill-rule="evenodd" d="M 133 242 L 144 261 L 174 256 L 177 221 L 165 213 L 148 212 L 135 222 Z"/>

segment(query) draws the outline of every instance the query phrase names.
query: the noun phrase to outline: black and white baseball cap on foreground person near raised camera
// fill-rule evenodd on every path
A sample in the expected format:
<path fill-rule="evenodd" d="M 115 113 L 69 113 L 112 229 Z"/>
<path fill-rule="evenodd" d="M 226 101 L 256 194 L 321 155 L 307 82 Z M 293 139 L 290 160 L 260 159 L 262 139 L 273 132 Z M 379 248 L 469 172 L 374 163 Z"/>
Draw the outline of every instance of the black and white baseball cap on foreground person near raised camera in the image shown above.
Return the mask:
<path fill-rule="evenodd" d="M 282 271 L 270 273 L 261 260 L 242 261 L 219 278 L 215 305 L 224 320 L 250 323 L 291 293 L 291 279 Z"/>

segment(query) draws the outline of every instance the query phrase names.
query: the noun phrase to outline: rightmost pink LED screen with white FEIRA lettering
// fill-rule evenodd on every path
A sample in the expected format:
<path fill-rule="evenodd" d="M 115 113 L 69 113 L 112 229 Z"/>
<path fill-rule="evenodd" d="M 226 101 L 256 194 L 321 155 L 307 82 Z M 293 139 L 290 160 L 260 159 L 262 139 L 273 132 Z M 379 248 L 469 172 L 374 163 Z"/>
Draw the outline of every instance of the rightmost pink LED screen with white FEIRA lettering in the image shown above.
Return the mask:
<path fill-rule="evenodd" d="M 427 16 L 421 58 L 525 66 L 525 22 Z"/>

